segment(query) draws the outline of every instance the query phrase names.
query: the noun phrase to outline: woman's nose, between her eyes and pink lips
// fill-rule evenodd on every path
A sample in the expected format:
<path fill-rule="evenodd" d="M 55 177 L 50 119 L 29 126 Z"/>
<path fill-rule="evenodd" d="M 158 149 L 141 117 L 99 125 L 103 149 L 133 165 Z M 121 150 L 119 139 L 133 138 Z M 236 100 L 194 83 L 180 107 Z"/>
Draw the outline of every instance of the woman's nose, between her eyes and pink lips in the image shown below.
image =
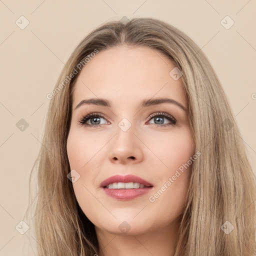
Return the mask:
<path fill-rule="evenodd" d="M 124 131 L 117 126 L 116 134 L 111 139 L 108 158 L 112 163 L 139 163 L 143 158 L 143 143 L 131 126 Z"/>

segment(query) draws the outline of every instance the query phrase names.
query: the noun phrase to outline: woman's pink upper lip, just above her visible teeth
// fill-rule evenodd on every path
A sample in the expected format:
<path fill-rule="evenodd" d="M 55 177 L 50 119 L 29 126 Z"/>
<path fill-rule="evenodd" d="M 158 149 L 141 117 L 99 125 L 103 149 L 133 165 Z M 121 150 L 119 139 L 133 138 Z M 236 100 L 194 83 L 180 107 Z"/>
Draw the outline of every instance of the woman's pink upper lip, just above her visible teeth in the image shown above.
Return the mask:
<path fill-rule="evenodd" d="M 123 182 L 123 183 L 138 182 L 138 183 L 143 184 L 145 186 L 153 186 L 148 181 L 146 181 L 146 180 L 144 180 L 144 179 L 142 179 L 142 178 L 140 178 L 138 176 L 132 175 L 132 174 L 125 175 L 125 176 L 122 176 L 122 175 L 111 176 L 111 177 L 105 179 L 104 181 L 102 181 L 100 183 L 100 186 L 104 187 L 104 186 L 106 186 L 108 184 L 112 184 L 112 183 L 115 183 L 115 182 Z"/>

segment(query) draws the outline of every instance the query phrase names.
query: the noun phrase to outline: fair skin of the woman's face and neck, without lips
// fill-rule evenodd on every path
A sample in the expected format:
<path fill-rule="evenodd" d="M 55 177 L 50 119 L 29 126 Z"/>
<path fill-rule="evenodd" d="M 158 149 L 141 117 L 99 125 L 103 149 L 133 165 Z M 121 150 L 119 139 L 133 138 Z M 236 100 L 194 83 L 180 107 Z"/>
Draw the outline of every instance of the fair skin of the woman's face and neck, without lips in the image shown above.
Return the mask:
<path fill-rule="evenodd" d="M 97 53 L 76 81 L 67 155 L 70 169 L 80 175 L 72 183 L 73 189 L 84 214 L 95 225 L 100 256 L 174 254 L 191 165 L 153 202 L 149 196 L 194 154 L 188 114 L 173 103 L 138 105 L 145 98 L 168 97 L 187 109 L 181 78 L 174 80 L 169 75 L 174 67 L 156 49 L 122 45 Z M 111 107 L 85 104 L 74 109 L 81 100 L 92 97 L 109 100 Z M 91 118 L 87 124 L 101 126 L 79 124 L 91 112 L 104 117 Z M 172 115 L 176 123 L 158 115 L 160 122 L 147 119 L 158 112 Z M 118 126 L 122 118 L 131 124 L 127 131 Z M 100 183 L 115 174 L 137 175 L 153 188 L 131 200 L 112 198 Z M 125 225 L 123 221 L 130 227 L 125 233 L 118 228 Z"/>

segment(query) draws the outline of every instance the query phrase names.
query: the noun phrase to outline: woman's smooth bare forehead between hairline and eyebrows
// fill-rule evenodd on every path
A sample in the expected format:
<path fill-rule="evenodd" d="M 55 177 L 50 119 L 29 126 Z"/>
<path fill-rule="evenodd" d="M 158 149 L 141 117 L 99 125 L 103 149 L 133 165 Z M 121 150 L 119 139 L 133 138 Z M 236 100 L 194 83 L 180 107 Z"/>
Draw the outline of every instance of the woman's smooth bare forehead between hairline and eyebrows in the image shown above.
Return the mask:
<path fill-rule="evenodd" d="M 83 67 L 74 85 L 74 105 L 90 97 L 135 104 L 141 98 L 171 97 L 187 107 L 181 78 L 169 74 L 174 63 L 147 46 L 115 46 L 99 51 Z"/>

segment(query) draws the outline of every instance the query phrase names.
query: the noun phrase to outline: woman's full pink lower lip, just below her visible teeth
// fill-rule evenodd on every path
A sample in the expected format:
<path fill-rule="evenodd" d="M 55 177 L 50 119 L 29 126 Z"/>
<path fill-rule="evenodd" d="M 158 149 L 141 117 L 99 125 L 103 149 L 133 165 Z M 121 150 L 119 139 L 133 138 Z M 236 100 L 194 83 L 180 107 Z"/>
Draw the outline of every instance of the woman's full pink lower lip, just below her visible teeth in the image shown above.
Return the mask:
<path fill-rule="evenodd" d="M 103 187 L 103 191 L 107 195 L 119 200 L 133 199 L 139 195 L 148 193 L 151 189 L 152 189 L 152 186 L 146 187 L 146 188 L 129 188 L 129 189 L 125 189 L 125 188 L 112 189 L 112 188 Z"/>

